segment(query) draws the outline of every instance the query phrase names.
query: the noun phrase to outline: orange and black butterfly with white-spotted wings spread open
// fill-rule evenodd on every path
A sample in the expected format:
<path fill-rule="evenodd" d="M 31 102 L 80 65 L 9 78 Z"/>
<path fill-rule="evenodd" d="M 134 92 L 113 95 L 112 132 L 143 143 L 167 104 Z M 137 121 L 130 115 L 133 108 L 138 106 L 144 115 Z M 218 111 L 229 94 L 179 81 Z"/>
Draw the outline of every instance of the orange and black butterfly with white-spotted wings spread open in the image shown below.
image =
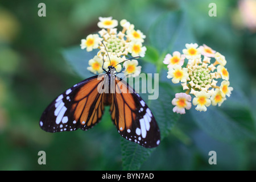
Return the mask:
<path fill-rule="evenodd" d="M 103 67 L 102 67 L 103 69 Z M 44 110 L 40 127 L 48 132 L 88 130 L 100 122 L 104 107 L 118 133 L 143 147 L 156 147 L 160 131 L 141 96 L 109 66 L 106 73 L 87 78 L 60 94 Z"/>

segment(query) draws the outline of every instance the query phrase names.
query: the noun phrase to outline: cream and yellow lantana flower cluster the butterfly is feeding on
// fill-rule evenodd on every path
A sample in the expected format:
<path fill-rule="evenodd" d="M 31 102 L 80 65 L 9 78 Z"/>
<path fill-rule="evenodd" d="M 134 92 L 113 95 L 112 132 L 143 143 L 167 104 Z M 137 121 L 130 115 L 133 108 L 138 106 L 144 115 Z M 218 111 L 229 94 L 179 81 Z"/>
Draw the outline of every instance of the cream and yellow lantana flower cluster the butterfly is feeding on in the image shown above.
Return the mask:
<path fill-rule="evenodd" d="M 126 19 L 119 22 L 122 31 L 117 30 L 118 21 L 112 19 L 112 17 L 100 17 L 99 20 L 100 22 L 98 22 L 97 26 L 101 30 L 98 31 L 98 34 L 88 35 L 86 39 L 81 40 L 80 44 L 81 49 L 86 49 L 88 52 L 93 49 L 100 49 L 97 55 L 89 60 L 87 69 L 94 74 L 102 73 L 102 64 L 104 69 L 108 69 L 111 62 L 116 72 L 123 70 L 126 76 L 138 76 L 141 73 L 141 66 L 138 65 L 138 60 L 125 60 L 128 57 L 144 57 L 146 47 L 142 43 L 146 36 L 140 30 L 135 30 L 134 24 L 131 24 Z M 122 61 L 125 62 L 122 63 Z"/>

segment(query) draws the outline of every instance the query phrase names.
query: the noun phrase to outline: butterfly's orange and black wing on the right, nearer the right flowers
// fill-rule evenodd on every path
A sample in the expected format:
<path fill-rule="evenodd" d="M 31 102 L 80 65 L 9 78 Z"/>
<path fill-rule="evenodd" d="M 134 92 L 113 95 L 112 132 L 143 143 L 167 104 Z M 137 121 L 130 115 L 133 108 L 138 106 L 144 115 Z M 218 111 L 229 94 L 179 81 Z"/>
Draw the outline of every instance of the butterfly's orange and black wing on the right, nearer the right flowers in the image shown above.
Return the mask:
<path fill-rule="evenodd" d="M 146 148 L 159 145 L 160 131 L 151 110 L 129 84 L 117 77 L 110 114 L 123 138 Z"/>

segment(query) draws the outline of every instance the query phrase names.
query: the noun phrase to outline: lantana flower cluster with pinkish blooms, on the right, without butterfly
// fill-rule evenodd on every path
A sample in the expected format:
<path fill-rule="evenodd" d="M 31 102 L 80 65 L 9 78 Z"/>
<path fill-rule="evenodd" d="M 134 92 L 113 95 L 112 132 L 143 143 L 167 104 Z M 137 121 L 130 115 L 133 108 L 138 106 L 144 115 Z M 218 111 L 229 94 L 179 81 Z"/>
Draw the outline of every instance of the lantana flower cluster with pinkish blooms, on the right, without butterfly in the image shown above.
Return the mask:
<path fill-rule="evenodd" d="M 185 114 L 185 109 L 191 109 L 192 97 L 192 104 L 199 111 L 207 111 L 210 105 L 221 106 L 233 90 L 229 86 L 225 56 L 205 44 L 199 47 L 191 43 L 185 47 L 182 53 L 168 53 L 163 61 L 168 68 L 167 78 L 171 78 L 174 84 L 180 83 L 186 90 L 175 94 L 173 111 Z"/>

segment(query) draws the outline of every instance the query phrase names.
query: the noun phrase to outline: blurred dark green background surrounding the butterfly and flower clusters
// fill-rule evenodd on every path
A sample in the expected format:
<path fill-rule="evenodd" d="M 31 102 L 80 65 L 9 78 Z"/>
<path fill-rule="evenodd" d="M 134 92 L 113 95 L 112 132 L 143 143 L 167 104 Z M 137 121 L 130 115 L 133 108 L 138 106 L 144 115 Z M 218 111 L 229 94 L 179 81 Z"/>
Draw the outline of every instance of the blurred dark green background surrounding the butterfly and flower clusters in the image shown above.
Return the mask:
<path fill-rule="evenodd" d="M 40 2 L 46 4 L 46 17 L 38 16 Z M 211 2 L 217 5 L 216 17 L 208 15 Z M 147 36 L 145 45 L 156 52 L 151 59 L 155 56 L 160 60 L 165 50 L 165 34 L 161 31 L 165 30 L 159 22 L 179 11 L 185 19 L 176 31 L 181 35 L 166 32 L 167 37 L 176 36 L 168 51 L 181 51 L 185 43 L 193 40 L 226 56 L 234 92 L 219 109 L 233 120 L 227 120 L 223 126 L 220 118 L 225 119 L 226 115 L 216 117 L 215 111 L 210 110 L 208 115 L 188 112 L 170 127 L 171 132 L 160 146 L 134 169 L 255 170 L 256 17 L 254 14 L 254 20 L 249 20 L 252 25 L 248 26 L 239 5 L 240 1 L 228 0 L 2 0 L 0 169 L 123 169 L 125 151 L 108 111 L 99 125 L 86 132 L 51 134 L 40 129 L 40 115 L 53 98 L 85 78 L 68 64 L 63 50 L 79 46 L 82 38 L 98 31 L 99 16 L 113 16 L 135 24 Z M 168 27 L 176 30 L 177 24 L 168 22 Z M 166 71 L 162 72 L 163 77 L 166 75 Z M 166 102 L 166 110 L 172 112 L 171 98 Z M 42 150 L 46 151 L 46 165 L 38 164 L 38 152 Z M 217 152 L 217 165 L 208 163 L 211 150 Z"/>

